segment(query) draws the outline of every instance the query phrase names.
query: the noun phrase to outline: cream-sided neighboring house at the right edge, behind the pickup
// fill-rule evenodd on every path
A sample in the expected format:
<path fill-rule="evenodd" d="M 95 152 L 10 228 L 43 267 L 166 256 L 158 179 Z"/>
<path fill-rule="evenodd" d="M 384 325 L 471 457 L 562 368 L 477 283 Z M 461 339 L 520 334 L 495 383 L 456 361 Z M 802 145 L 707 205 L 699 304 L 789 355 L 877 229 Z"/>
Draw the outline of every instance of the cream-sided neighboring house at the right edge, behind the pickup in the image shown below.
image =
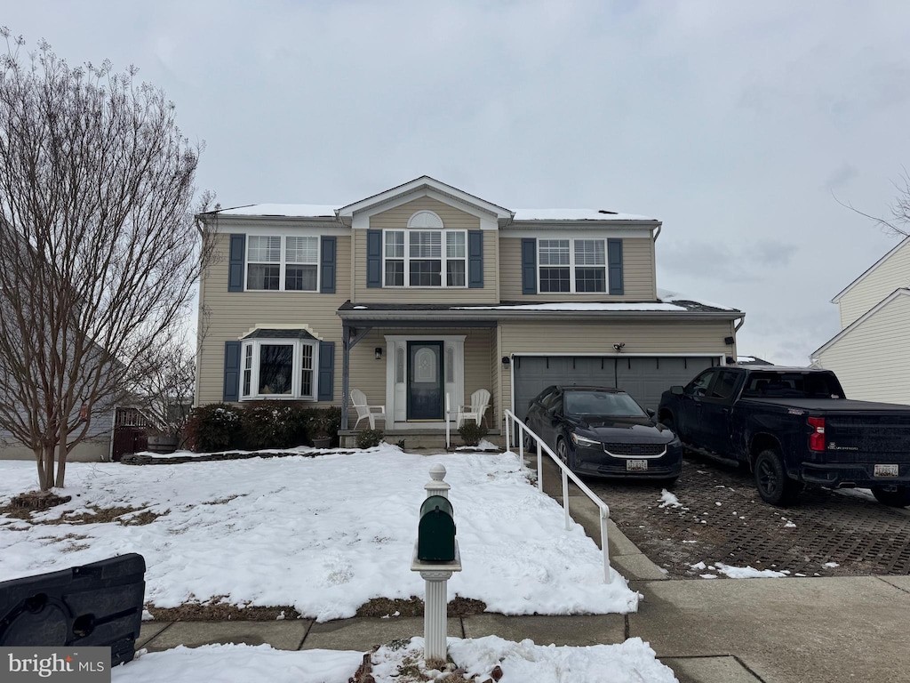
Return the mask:
<path fill-rule="evenodd" d="M 811 355 L 848 398 L 910 404 L 910 239 L 840 291 L 841 331 Z"/>

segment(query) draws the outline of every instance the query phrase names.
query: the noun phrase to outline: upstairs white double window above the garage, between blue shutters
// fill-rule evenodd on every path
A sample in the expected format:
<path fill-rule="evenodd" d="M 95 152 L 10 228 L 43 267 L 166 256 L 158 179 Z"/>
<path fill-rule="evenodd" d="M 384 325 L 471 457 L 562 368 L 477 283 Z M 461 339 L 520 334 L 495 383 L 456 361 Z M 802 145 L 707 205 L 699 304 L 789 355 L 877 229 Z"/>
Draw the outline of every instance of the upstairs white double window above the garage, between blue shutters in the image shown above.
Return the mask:
<path fill-rule="evenodd" d="M 540 291 L 607 291 L 604 240 L 538 240 Z"/>

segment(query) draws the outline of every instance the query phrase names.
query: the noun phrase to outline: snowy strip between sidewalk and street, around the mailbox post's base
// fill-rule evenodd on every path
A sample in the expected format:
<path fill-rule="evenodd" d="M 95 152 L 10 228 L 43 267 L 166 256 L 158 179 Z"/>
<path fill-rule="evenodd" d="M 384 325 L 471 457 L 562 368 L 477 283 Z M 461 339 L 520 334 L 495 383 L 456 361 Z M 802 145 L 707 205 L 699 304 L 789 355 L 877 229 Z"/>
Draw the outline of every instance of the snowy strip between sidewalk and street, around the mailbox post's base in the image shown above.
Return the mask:
<path fill-rule="evenodd" d="M 460 680 L 490 680 L 501 669 L 500 683 L 675 683 L 669 667 L 654 658 L 641 638 L 619 645 L 556 647 L 514 643 L 501 637 L 449 638 L 449 656 L 462 669 Z M 360 652 L 302 650 L 287 652 L 266 645 L 209 645 L 143 653 L 113 669 L 114 683 L 348 683 L 362 658 Z M 383 646 L 371 656 L 376 683 L 433 680 L 441 672 L 424 666 L 423 638 Z M 446 678 L 447 681 L 454 678 Z"/>

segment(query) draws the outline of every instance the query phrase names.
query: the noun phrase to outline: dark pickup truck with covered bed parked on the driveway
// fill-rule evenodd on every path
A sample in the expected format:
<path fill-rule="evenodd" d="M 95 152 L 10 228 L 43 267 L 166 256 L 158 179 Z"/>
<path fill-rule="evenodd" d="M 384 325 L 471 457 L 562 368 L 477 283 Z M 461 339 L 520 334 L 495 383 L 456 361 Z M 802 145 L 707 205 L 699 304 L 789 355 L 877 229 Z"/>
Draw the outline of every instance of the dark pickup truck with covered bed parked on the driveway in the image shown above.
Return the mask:
<path fill-rule="evenodd" d="M 715 367 L 663 392 L 658 419 L 689 448 L 748 464 L 763 500 L 788 505 L 805 484 L 871 488 L 910 505 L 910 406 L 850 401 L 834 372 Z"/>

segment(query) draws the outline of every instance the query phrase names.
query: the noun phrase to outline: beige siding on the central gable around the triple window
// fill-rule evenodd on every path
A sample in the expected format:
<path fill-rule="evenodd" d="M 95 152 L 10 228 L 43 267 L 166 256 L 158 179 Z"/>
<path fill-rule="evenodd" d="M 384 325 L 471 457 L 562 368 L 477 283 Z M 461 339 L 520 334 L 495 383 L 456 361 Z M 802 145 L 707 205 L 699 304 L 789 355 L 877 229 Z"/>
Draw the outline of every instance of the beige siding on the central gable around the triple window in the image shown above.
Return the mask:
<path fill-rule="evenodd" d="M 423 197 L 395 209 L 383 211 L 369 218 L 369 228 L 407 229 L 408 219 L 417 211 L 433 211 L 442 219 L 444 229 L 478 230 L 480 219 L 448 204 Z M 483 287 L 478 289 L 445 287 L 367 287 L 367 231 L 354 230 L 354 264 L 351 283 L 354 303 L 398 302 L 398 303 L 493 303 L 499 301 L 496 280 L 498 242 L 495 230 L 483 231 Z"/>

